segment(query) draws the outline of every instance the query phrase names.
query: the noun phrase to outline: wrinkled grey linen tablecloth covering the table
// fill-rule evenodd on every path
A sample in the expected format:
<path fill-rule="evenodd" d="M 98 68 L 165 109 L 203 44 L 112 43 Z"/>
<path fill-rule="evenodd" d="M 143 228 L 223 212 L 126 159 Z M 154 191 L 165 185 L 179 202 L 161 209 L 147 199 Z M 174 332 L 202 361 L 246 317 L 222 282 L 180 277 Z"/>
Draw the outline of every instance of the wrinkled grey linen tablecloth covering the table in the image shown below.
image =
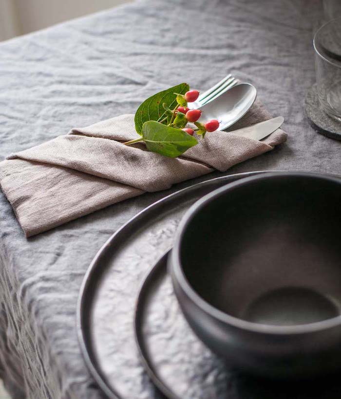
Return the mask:
<path fill-rule="evenodd" d="M 144 0 L 0 43 L 0 159 L 71 127 L 132 113 L 180 81 L 206 89 L 230 72 L 257 87 L 270 113 L 285 117 L 289 137 L 228 174 L 340 174 L 341 143 L 315 133 L 303 113 L 321 8 L 318 0 Z M 147 205 L 220 175 L 123 201 L 29 239 L 0 193 L 0 371 L 14 398 L 103 398 L 76 338 L 88 265 Z"/>

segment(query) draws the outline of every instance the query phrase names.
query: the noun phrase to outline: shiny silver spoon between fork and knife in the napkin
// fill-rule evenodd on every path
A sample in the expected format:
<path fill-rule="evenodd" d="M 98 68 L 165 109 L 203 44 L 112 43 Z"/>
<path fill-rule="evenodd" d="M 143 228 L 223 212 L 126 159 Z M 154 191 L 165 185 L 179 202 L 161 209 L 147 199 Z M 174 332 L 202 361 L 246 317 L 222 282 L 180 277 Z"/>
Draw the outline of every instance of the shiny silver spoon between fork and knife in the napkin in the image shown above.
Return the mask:
<path fill-rule="evenodd" d="M 200 107 L 203 111 L 201 121 L 217 119 L 220 123 L 219 130 L 225 130 L 246 114 L 256 97 L 257 90 L 254 86 L 240 83 Z"/>

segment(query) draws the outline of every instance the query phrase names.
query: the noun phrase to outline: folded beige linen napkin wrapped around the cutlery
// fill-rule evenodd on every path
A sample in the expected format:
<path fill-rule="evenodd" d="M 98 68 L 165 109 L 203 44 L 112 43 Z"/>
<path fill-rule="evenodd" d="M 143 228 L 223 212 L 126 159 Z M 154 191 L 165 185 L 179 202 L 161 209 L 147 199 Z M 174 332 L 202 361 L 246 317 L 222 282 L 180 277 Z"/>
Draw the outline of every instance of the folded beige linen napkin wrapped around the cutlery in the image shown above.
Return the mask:
<path fill-rule="evenodd" d="M 256 102 L 239 127 L 269 119 Z M 237 127 L 236 127 L 237 128 Z M 116 202 L 169 188 L 270 151 L 286 140 L 278 129 L 260 142 L 207 133 L 179 158 L 122 142 L 137 138 L 134 116 L 122 115 L 59 136 L 0 163 L 0 186 L 25 235 L 33 236 Z"/>

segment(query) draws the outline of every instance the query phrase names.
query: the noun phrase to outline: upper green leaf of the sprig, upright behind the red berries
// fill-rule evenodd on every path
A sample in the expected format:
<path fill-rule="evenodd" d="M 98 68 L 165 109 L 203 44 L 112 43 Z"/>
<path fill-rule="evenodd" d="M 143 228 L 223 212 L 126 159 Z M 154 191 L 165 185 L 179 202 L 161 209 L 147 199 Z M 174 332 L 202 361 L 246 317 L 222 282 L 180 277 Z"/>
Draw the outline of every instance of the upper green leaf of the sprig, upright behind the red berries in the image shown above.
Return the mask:
<path fill-rule="evenodd" d="M 166 104 L 170 109 L 174 109 L 177 105 L 176 94 L 174 91 L 185 94 L 189 91 L 187 83 L 171 87 L 170 89 L 160 91 L 147 98 L 137 109 L 135 113 L 135 129 L 137 133 L 142 136 L 143 124 L 147 121 L 160 121 L 166 117 L 163 104 Z"/>

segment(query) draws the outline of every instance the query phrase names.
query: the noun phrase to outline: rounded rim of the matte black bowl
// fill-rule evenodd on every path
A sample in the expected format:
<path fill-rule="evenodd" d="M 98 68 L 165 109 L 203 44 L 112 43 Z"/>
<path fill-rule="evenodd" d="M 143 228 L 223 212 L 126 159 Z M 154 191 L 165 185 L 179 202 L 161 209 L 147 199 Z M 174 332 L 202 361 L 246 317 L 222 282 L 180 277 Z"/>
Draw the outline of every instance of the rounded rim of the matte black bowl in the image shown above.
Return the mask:
<path fill-rule="evenodd" d="M 329 175 L 329 174 L 314 173 L 314 172 L 269 172 L 261 175 L 246 177 L 244 179 L 240 179 L 238 181 L 234 181 L 228 183 L 223 187 L 220 187 L 212 191 L 211 193 L 208 193 L 200 200 L 195 202 L 181 219 L 175 236 L 173 248 L 170 254 L 171 270 L 176 279 L 176 282 L 181 286 L 181 289 L 196 306 L 201 308 L 205 313 L 208 313 L 209 315 L 213 316 L 218 321 L 221 321 L 227 325 L 231 325 L 233 327 L 237 327 L 250 332 L 258 332 L 263 334 L 264 333 L 280 334 L 280 335 L 312 333 L 320 330 L 325 330 L 328 328 L 333 328 L 341 324 L 341 315 L 333 317 L 331 319 L 326 319 L 314 323 L 301 324 L 297 326 L 274 326 L 274 325 L 259 324 L 259 323 L 249 322 L 235 316 L 231 316 L 228 313 L 225 313 L 224 311 L 214 307 L 205 299 L 203 299 L 192 288 L 182 269 L 180 261 L 180 249 L 181 249 L 182 237 L 186 231 L 188 224 L 201 208 L 207 205 L 208 202 L 218 198 L 223 193 L 238 189 L 240 186 L 244 186 L 245 184 L 249 184 L 250 182 L 283 178 L 283 177 L 298 177 L 298 178 L 307 177 L 318 180 L 331 181 L 341 185 L 341 176 L 338 175 Z"/>

